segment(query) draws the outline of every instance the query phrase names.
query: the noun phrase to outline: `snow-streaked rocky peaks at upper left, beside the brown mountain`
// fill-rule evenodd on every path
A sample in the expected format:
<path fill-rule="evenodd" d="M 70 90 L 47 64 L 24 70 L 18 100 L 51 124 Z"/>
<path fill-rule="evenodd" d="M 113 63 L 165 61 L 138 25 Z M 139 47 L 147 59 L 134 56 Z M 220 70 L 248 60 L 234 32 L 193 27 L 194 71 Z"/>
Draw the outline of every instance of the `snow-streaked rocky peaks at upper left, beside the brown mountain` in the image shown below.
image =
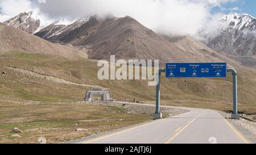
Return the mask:
<path fill-rule="evenodd" d="M 40 36 L 44 39 L 49 39 L 53 36 L 61 35 L 61 33 L 72 31 L 88 22 L 88 20 L 88 16 L 80 19 L 62 18 L 56 20 L 47 18 L 46 15 L 41 14 L 38 10 L 31 10 L 22 12 L 3 24 L 19 28 L 20 30 Z"/>

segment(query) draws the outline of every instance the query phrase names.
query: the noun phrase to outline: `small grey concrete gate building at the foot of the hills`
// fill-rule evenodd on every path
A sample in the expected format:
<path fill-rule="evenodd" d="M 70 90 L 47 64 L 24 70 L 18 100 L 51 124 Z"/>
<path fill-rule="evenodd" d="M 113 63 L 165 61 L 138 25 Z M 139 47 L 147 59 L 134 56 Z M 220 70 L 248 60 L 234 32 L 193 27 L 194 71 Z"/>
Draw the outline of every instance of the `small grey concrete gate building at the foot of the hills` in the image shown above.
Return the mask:
<path fill-rule="evenodd" d="M 109 91 L 105 91 L 99 88 L 88 90 L 85 96 L 85 101 L 111 101 Z"/>

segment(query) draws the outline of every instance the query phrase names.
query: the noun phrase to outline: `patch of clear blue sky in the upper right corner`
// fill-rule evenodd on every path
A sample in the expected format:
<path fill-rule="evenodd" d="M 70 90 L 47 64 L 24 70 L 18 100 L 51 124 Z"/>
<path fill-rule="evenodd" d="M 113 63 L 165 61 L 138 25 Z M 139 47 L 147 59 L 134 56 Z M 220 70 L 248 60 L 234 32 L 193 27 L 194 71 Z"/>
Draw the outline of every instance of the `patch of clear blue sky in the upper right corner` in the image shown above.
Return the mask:
<path fill-rule="evenodd" d="M 228 2 L 221 7 L 214 7 L 213 12 L 237 12 L 240 14 L 250 14 L 256 17 L 256 1 L 237 0 L 235 2 Z"/>

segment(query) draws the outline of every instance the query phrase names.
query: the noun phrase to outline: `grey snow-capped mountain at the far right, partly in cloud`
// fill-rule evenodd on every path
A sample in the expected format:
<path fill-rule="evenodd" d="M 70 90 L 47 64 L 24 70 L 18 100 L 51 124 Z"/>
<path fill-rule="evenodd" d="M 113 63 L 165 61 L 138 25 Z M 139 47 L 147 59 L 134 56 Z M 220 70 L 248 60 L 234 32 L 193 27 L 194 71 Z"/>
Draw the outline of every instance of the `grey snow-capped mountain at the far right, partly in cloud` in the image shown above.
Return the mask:
<path fill-rule="evenodd" d="M 202 27 L 199 38 L 214 51 L 243 65 L 256 65 L 256 19 L 251 15 L 226 14 L 216 27 L 213 24 Z"/>

